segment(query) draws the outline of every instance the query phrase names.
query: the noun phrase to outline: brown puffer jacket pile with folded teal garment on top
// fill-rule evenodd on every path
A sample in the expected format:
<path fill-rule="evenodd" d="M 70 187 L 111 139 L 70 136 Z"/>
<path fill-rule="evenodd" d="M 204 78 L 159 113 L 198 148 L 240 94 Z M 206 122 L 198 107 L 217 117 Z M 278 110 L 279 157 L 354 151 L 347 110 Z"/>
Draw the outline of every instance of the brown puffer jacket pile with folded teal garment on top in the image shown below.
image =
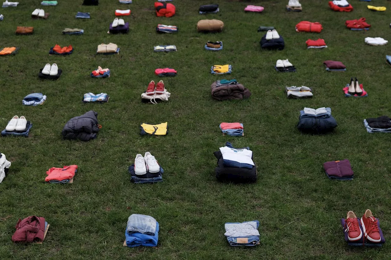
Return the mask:
<path fill-rule="evenodd" d="M 235 79 L 217 80 L 210 85 L 210 88 L 212 91 L 212 98 L 216 100 L 242 100 L 251 96 L 251 92 L 242 84 L 239 84 Z"/>

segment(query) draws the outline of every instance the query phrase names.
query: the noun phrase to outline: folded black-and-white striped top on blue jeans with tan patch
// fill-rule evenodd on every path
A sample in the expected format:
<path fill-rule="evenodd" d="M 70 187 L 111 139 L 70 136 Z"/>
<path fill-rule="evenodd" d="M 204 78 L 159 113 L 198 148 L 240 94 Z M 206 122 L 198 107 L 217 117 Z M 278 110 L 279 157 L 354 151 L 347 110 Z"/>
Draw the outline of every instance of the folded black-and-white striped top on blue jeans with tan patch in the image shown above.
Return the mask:
<path fill-rule="evenodd" d="M 259 245 L 259 221 L 245 221 L 242 223 L 225 223 L 225 233 L 230 246 L 256 246 Z"/>

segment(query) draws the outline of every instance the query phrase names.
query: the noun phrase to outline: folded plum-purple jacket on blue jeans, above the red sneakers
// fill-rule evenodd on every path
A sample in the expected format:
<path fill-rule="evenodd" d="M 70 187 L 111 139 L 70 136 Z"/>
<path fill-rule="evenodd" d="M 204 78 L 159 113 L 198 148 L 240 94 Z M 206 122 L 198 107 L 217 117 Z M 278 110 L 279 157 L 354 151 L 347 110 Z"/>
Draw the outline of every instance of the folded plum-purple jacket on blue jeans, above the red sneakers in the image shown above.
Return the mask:
<path fill-rule="evenodd" d="M 340 161 L 325 162 L 323 169 L 329 179 L 353 180 L 353 170 L 348 159 Z"/>

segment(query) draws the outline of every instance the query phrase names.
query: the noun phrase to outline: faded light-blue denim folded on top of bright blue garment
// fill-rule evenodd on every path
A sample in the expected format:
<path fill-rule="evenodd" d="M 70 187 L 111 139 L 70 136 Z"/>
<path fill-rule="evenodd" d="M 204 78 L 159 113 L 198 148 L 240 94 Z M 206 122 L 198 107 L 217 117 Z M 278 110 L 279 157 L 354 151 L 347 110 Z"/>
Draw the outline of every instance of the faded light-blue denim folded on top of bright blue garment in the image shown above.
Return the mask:
<path fill-rule="evenodd" d="M 127 220 L 124 246 L 157 246 L 159 223 L 151 216 L 132 214 Z"/>

